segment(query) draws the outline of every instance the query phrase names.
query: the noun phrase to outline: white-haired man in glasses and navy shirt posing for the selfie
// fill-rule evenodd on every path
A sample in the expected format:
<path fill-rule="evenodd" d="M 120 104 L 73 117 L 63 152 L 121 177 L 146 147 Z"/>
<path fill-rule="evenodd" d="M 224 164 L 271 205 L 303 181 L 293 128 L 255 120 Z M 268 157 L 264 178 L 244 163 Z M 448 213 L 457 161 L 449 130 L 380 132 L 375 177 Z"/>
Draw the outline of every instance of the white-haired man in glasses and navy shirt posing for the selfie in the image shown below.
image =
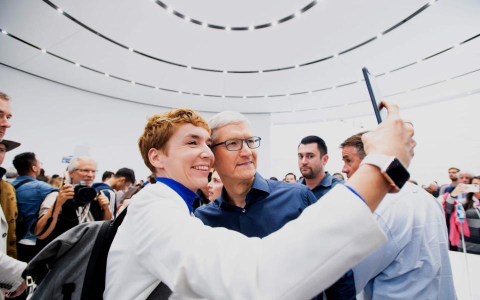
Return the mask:
<path fill-rule="evenodd" d="M 306 185 L 264 179 L 257 171 L 261 137 L 253 136 L 241 113 L 223 111 L 208 122 L 211 130 L 213 168 L 223 182 L 220 196 L 195 210 L 205 225 L 225 227 L 248 237 L 265 237 L 297 218 L 317 201 Z M 329 299 L 355 298 L 351 275 L 325 290 Z M 321 294 L 317 296 L 321 299 Z"/>

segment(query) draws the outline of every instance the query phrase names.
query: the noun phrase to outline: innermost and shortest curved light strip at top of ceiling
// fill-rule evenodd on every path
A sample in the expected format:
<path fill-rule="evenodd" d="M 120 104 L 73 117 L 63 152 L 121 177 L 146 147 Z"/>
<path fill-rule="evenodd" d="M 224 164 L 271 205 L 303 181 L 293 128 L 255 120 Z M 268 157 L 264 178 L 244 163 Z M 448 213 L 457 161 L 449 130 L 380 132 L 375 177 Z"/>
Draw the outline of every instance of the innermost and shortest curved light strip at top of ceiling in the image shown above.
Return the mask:
<path fill-rule="evenodd" d="M 207 23 L 207 22 L 203 22 L 203 21 L 191 18 L 191 17 L 187 16 L 186 14 L 183 14 L 183 13 L 177 11 L 177 10 L 174 10 L 173 8 L 166 5 L 165 3 L 163 3 L 160 0 L 154 0 L 154 1 L 159 6 L 164 8 L 166 10 L 166 12 L 171 13 L 173 15 L 176 15 L 177 17 L 179 17 L 179 18 L 181 18 L 181 19 L 183 19 L 187 22 L 191 22 L 193 24 L 197 24 L 197 25 L 200 25 L 200 26 L 203 26 L 203 27 L 209 27 L 209 28 L 221 29 L 221 30 L 232 30 L 232 31 L 254 30 L 254 29 L 261 29 L 261 28 L 276 26 L 280 23 L 286 22 L 288 20 L 291 20 L 294 17 L 299 16 L 303 12 L 305 12 L 308 9 L 310 9 L 311 7 L 315 6 L 315 4 L 317 3 L 317 0 L 313 0 L 310 3 L 308 3 L 305 7 L 296 11 L 295 13 L 289 14 L 285 17 L 282 17 L 278 20 L 274 20 L 274 21 L 271 21 L 271 22 L 268 22 L 268 23 L 263 23 L 263 24 L 259 24 L 259 25 L 248 25 L 248 26 L 225 26 L 225 25 L 211 24 L 211 23 Z"/>

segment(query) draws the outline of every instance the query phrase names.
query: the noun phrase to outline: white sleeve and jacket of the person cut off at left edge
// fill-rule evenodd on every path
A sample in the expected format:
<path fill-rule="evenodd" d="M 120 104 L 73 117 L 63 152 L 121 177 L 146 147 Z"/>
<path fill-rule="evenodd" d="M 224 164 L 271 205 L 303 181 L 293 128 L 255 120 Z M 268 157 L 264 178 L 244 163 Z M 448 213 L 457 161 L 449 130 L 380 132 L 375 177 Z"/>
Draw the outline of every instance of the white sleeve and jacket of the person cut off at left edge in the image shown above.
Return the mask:
<path fill-rule="evenodd" d="M 3 209 L 0 206 L 0 298 L 3 296 L 4 290 L 15 290 L 18 285 L 23 281 L 21 273 L 26 267 L 26 262 L 16 260 L 6 255 L 6 232 L 8 231 L 8 223 Z M 11 286 L 10 288 L 2 288 L 5 286 Z"/>

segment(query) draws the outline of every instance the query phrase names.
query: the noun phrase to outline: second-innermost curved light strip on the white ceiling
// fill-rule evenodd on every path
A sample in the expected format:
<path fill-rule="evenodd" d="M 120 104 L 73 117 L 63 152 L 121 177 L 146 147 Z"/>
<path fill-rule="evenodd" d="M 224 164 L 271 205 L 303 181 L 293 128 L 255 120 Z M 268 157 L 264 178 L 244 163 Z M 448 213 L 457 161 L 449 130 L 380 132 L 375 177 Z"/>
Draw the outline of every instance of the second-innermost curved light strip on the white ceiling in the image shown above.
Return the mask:
<path fill-rule="evenodd" d="M 186 64 L 182 64 L 182 63 L 178 63 L 178 62 L 173 62 L 173 61 L 169 61 L 169 60 L 166 60 L 166 59 L 163 59 L 163 58 L 159 58 L 159 57 L 155 57 L 153 55 L 150 55 L 150 54 L 147 54 L 147 53 L 144 53 L 142 51 L 139 51 L 139 50 L 135 50 L 134 48 L 132 47 L 129 47 L 129 46 L 126 46 L 120 42 L 117 42 L 103 34 L 101 34 L 100 32 L 88 27 L 87 25 L 85 25 L 84 23 L 80 22 L 79 20 L 75 19 L 74 17 L 72 17 L 71 15 L 69 15 L 68 13 L 66 13 L 64 10 L 60 9 L 59 7 L 57 7 L 55 4 L 53 4 L 52 2 L 50 2 L 49 0 L 43 0 L 43 2 L 47 3 L 48 5 L 50 5 L 51 7 L 53 7 L 54 9 L 56 9 L 57 11 L 61 11 L 60 13 L 63 14 L 64 16 L 66 16 L 67 18 L 69 18 L 70 20 L 74 21 L 75 23 L 77 23 L 78 25 L 82 26 L 83 28 L 87 29 L 88 31 L 124 48 L 124 49 L 128 49 L 130 52 L 134 52 L 136 54 L 140 54 L 142 56 L 145 56 L 145 57 L 148 57 L 148 58 L 151 58 L 151 59 L 154 59 L 154 60 L 157 60 L 157 61 L 161 61 L 161 62 L 164 62 L 164 63 L 168 63 L 168 64 L 172 64 L 172 65 L 176 65 L 176 66 L 180 66 L 180 67 L 186 67 L 186 68 L 189 68 L 189 69 L 195 69 L 195 70 L 200 70 L 200 71 L 209 71 L 209 72 L 223 72 L 223 73 L 262 73 L 262 72 L 275 72 L 275 71 L 282 71 L 282 70 L 287 70 L 287 69 L 292 69 L 292 68 L 298 68 L 298 67 L 301 67 L 301 66 L 306 66 L 306 65 L 310 65 L 310 64 L 314 64 L 314 63 L 317 63 L 317 62 L 320 62 L 320 61 L 324 61 L 324 60 L 327 60 L 327 59 L 330 59 L 330 58 L 336 58 L 338 57 L 338 55 L 342 55 L 342 54 L 345 54 L 349 51 L 352 51 L 356 48 L 359 48 L 381 36 L 383 36 L 384 34 L 390 32 L 391 30 L 399 27 L 400 25 L 402 25 L 403 23 L 405 23 L 406 21 L 408 21 L 409 19 L 413 18 L 415 15 L 417 15 L 418 13 L 420 13 L 421 11 L 425 10 L 428 6 L 432 5 L 436 0 L 430 0 L 428 3 L 426 3 L 425 5 L 423 5 L 422 7 L 420 7 L 419 9 L 417 9 L 415 12 L 413 12 L 412 14 L 410 14 L 409 16 L 407 16 L 406 18 L 404 18 L 403 20 L 401 20 L 400 22 L 396 23 L 395 25 L 391 26 L 390 28 L 386 29 L 385 31 L 383 32 L 380 32 L 378 33 L 377 35 L 375 35 L 374 37 L 371 37 L 355 46 L 352 46 L 346 50 L 343 50 L 343 51 L 340 51 L 340 52 L 337 52 L 337 53 L 333 53 L 329 56 L 325 56 L 323 58 L 319 58 L 319 59 L 316 59 L 316 60 L 313 60 L 313 61 L 309 61 L 309 62 L 304 62 L 304 63 L 299 63 L 299 64 L 295 64 L 295 65 L 292 65 L 292 66 L 285 66 L 285 67 L 277 67 L 277 68 L 270 68 L 270 69 L 264 69 L 264 70 L 220 70 L 220 69 L 212 69 L 212 68 L 204 68 L 204 67 L 197 67 L 197 66 L 192 66 L 192 65 L 186 65 Z M 306 6 L 305 6 L 306 7 Z M 172 10 L 173 11 L 173 10 Z M 206 23 L 203 23 L 203 24 L 206 24 Z M 206 25 L 204 25 L 206 26 Z M 229 29 L 231 29 L 231 27 L 228 27 Z M 228 30 L 226 27 L 225 27 L 225 30 Z"/>

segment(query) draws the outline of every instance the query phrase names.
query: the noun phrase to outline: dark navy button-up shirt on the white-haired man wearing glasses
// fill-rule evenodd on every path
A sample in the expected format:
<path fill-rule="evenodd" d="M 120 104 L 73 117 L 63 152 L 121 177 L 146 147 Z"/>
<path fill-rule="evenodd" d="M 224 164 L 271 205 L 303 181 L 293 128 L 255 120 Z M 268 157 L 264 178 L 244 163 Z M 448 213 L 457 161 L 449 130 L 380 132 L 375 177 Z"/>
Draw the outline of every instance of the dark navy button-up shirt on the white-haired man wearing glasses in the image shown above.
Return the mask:
<path fill-rule="evenodd" d="M 297 218 L 308 205 L 316 202 L 315 195 L 307 186 L 266 180 L 259 173 L 255 174 L 251 189 L 246 194 L 245 207 L 228 204 L 227 197 L 225 188 L 222 188 L 220 197 L 206 206 L 198 207 L 194 212 L 195 216 L 205 225 L 225 227 L 249 237 L 264 237 L 280 229 L 288 221 Z M 351 271 L 346 277 L 347 279 L 340 279 L 325 291 L 327 297 L 355 297 Z M 322 299 L 321 294 L 317 299 Z"/>

